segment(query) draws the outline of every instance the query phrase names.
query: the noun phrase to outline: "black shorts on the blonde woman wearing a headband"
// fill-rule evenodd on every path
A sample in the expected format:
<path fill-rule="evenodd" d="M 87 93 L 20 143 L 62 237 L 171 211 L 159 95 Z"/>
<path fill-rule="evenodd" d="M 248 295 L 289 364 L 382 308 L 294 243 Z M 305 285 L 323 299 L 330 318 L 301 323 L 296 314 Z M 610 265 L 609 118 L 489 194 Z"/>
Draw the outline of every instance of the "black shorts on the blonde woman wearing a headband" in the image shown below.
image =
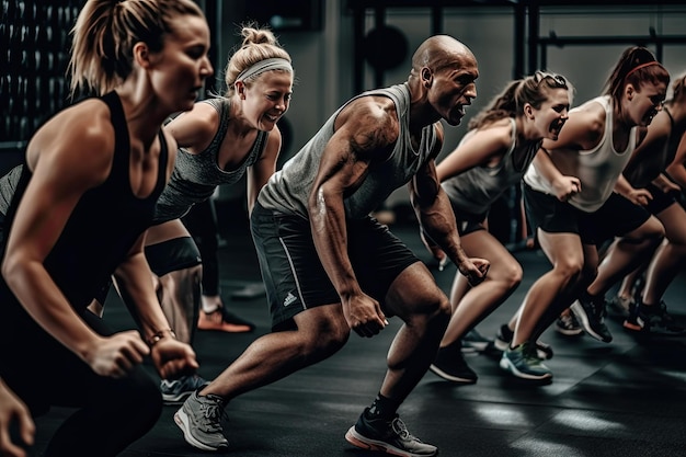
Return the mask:
<path fill-rule="evenodd" d="M 173 238 L 146 247 L 150 270 L 158 276 L 202 263 L 201 251 L 191 237 Z"/>

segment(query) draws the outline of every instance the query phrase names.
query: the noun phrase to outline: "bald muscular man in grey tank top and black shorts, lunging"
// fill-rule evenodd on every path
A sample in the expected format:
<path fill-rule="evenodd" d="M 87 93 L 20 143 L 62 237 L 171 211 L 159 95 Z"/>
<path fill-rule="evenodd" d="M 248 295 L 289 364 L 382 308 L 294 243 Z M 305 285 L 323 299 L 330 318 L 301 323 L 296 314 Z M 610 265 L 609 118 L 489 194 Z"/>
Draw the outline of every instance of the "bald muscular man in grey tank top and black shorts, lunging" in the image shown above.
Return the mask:
<path fill-rule="evenodd" d="M 434 359 L 450 304 L 426 266 L 370 213 L 408 185 L 422 229 L 471 284 L 483 279 L 489 263 L 462 251 L 435 170 L 439 121 L 460 123 L 478 76 L 464 44 L 447 35 L 426 39 L 407 82 L 346 102 L 262 188 L 251 228 L 273 332 L 176 412 L 191 445 L 227 447 L 221 414 L 205 411 L 221 412 L 236 396 L 331 356 L 351 331 L 373 338 L 395 316 L 404 324 L 386 378 L 345 438 L 399 456 L 437 453 L 407 432 L 397 411 Z"/>

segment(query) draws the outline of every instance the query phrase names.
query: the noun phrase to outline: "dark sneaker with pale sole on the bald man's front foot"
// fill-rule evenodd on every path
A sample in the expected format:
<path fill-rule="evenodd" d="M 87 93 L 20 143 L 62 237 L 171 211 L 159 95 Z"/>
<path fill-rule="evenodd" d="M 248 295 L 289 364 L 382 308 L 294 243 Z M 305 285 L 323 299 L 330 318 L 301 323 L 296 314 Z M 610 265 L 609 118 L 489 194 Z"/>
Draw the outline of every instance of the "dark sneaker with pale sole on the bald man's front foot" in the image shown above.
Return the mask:
<path fill-rule="evenodd" d="M 438 448 L 431 444 L 422 443 L 408 432 L 408 427 L 398 414 L 390 421 L 382 419 L 369 419 L 369 408 L 359 415 L 357 423 L 350 427 L 345 439 L 353 446 L 362 449 L 380 450 L 402 457 L 435 456 Z"/>

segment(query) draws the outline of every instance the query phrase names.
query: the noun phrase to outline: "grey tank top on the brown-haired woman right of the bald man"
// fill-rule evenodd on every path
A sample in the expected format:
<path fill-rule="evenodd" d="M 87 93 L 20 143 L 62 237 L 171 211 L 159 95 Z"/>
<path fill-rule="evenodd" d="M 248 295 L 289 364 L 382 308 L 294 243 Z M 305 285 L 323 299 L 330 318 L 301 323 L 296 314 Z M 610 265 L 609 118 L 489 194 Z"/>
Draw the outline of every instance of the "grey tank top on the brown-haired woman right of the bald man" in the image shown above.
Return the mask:
<path fill-rule="evenodd" d="M 515 163 L 517 127 L 514 117 L 510 117 L 510 121 L 512 125 L 510 149 L 496 165 L 473 167 L 441 183 L 453 205 L 466 213 L 483 214 L 488 212 L 503 192 L 519 183 L 540 148 L 541 141 L 529 142 L 526 145 L 524 157 L 518 161 L 519 163 Z"/>

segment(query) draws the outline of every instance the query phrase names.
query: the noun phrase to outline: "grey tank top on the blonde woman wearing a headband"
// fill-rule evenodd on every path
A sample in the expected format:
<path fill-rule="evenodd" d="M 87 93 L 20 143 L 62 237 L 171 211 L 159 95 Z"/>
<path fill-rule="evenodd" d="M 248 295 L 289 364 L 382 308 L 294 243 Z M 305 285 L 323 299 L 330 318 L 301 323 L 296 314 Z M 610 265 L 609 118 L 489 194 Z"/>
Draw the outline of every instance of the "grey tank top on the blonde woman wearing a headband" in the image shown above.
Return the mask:
<path fill-rule="evenodd" d="M 245 174 L 245 169 L 256 163 L 266 146 L 270 134 L 260 130 L 241 164 L 236 170 L 222 170 L 218 165 L 217 156 L 229 128 L 231 102 L 225 98 L 215 98 L 202 103 L 208 103 L 217 110 L 219 128 L 209 146 L 199 153 L 179 148 L 171 179 L 157 203 L 155 224 L 184 216 L 193 205 L 209 198 L 218 185 L 237 183 Z"/>

